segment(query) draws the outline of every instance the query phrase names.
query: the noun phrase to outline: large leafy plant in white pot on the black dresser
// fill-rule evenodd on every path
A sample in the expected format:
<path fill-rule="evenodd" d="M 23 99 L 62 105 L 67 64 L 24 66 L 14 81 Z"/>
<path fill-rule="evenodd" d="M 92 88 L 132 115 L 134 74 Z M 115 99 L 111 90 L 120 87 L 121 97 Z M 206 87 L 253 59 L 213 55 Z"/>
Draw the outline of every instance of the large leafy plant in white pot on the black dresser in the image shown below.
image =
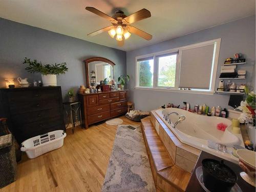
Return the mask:
<path fill-rule="evenodd" d="M 36 59 L 31 61 L 25 57 L 24 64 L 29 66 L 25 69 L 30 73 L 41 73 L 42 83 L 44 86 L 57 86 L 57 76 L 59 74 L 65 74 L 68 71 L 66 62 L 42 65 L 41 62 L 37 62 Z"/>

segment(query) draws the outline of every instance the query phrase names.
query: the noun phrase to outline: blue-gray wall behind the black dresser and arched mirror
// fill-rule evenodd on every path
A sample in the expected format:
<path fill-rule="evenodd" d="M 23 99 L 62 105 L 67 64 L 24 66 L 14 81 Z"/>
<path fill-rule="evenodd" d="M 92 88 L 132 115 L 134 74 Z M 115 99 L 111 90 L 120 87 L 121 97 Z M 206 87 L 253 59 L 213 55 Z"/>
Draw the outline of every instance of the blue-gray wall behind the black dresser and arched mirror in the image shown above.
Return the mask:
<path fill-rule="evenodd" d="M 83 60 L 95 56 L 108 58 L 116 64 L 116 80 L 120 74 L 126 74 L 124 51 L 0 18 L 0 87 L 5 87 L 5 78 L 28 77 L 30 83 L 34 79 L 41 80 L 40 74 L 25 70 L 22 64 L 25 57 L 42 63 L 67 62 L 69 71 L 57 76 L 57 84 L 65 97 L 70 88 L 77 90 L 81 84 L 86 84 Z"/>

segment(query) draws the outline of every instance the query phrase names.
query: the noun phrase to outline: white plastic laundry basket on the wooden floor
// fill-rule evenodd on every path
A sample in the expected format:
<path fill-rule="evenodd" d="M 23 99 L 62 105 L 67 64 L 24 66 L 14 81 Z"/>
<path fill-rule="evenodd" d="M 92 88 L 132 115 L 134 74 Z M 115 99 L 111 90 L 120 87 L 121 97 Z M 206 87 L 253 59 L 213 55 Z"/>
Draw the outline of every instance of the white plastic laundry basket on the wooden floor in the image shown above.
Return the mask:
<path fill-rule="evenodd" d="M 23 141 L 20 151 L 26 152 L 28 157 L 32 159 L 61 147 L 66 136 L 67 134 L 63 130 L 35 136 Z"/>

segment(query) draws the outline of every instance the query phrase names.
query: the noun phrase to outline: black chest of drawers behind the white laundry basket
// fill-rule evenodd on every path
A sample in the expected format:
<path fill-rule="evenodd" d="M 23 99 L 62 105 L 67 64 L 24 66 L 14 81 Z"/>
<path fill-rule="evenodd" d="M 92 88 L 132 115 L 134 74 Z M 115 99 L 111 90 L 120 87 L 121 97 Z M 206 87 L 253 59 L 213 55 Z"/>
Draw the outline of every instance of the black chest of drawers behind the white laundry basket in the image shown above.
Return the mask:
<path fill-rule="evenodd" d="M 60 87 L 0 89 L 2 113 L 18 143 L 65 130 Z"/>

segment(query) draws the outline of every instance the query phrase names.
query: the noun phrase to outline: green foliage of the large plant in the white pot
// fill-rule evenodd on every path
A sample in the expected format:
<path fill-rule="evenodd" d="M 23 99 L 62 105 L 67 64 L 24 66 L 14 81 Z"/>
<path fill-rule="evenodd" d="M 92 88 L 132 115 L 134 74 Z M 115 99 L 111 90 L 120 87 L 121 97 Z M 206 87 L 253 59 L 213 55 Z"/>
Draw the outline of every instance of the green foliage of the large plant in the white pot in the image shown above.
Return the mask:
<path fill-rule="evenodd" d="M 23 63 L 29 65 L 25 69 L 30 73 L 41 73 L 42 75 L 48 75 L 48 74 L 59 75 L 59 74 L 65 74 L 65 72 L 68 71 L 66 62 L 62 62 L 58 64 L 55 63 L 54 65 L 53 64 L 42 65 L 42 63 L 37 62 L 36 59 L 31 61 L 30 58 L 25 57 Z"/>

